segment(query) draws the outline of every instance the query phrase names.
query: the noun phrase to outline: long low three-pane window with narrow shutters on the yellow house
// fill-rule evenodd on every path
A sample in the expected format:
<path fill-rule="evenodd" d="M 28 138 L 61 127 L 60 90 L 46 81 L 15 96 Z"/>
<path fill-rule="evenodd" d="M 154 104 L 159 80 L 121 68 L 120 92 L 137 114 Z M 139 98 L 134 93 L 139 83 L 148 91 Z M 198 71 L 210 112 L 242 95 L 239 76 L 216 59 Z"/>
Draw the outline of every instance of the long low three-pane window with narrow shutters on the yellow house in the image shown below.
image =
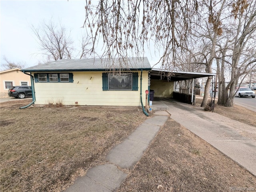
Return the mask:
<path fill-rule="evenodd" d="M 72 73 L 35 73 L 35 82 L 73 82 Z"/>

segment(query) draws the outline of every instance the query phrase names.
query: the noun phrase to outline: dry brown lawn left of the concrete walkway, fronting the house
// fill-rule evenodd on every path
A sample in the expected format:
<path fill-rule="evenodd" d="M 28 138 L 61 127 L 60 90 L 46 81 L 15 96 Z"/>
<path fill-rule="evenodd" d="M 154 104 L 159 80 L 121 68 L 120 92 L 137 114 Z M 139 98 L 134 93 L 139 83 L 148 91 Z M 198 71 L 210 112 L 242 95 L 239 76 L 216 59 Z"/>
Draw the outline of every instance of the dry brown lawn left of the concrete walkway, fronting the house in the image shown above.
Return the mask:
<path fill-rule="evenodd" d="M 147 117 L 137 108 L 1 103 L 0 191 L 60 191 Z"/>

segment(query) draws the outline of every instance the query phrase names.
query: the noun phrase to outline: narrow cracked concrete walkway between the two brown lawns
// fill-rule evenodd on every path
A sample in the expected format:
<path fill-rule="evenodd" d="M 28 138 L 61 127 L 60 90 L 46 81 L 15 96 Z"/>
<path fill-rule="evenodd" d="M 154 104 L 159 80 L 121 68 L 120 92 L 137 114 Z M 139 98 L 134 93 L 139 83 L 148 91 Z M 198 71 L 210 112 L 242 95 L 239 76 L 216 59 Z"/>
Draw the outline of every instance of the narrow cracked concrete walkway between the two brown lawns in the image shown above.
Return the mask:
<path fill-rule="evenodd" d="M 159 114 L 159 115 L 157 115 Z M 133 169 L 156 136 L 161 125 L 168 119 L 168 112 L 156 112 L 138 126 L 124 141 L 114 146 L 106 155 L 109 163 L 90 168 L 86 175 L 75 180 L 66 192 L 113 192 L 126 176 L 123 169 Z"/>

